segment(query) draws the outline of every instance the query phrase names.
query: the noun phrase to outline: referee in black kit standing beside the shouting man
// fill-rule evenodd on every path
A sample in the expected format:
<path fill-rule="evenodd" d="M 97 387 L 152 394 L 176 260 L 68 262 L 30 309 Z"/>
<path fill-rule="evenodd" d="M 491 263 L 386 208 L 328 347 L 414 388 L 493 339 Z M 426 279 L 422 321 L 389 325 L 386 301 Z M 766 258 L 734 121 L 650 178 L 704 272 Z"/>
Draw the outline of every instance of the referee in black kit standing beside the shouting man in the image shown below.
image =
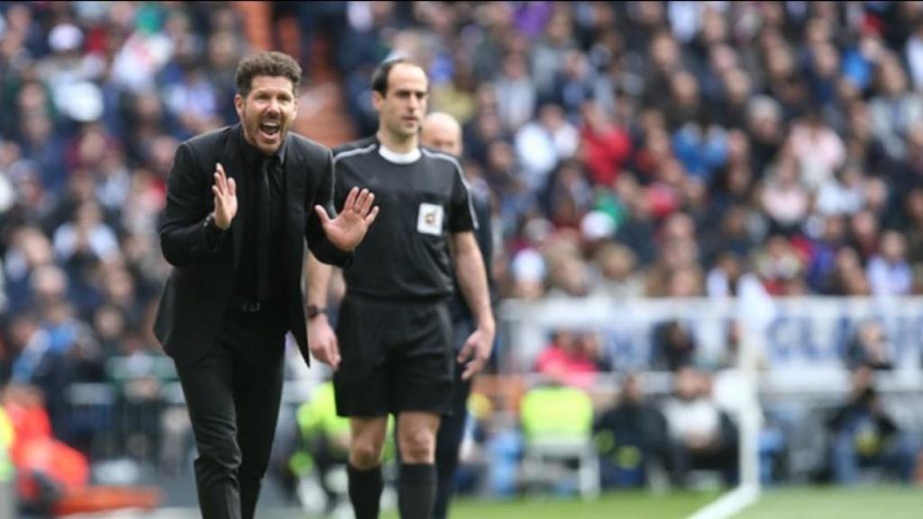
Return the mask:
<path fill-rule="evenodd" d="M 439 417 L 451 412 L 456 361 L 452 267 L 476 323 L 457 356 L 463 380 L 484 367 L 494 341 L 462 166 L 419 144 L 427 91 L 421 67 L 406 59 L 384 63 L 372 77 L 378 132 L 334 151 L 334 198 L 343 199 L 351 187 L 370 187 L 380 208 L 343 272 L 346 294 L 336 333 L 323 308 L 330 267 L 313 258 L 308 264 L 308 343 L 334 369 L 337 412 L 350 417 L 349 495 L 357 519 L 378 517 L 389 414 L 397 416 L 402 453 L 401 516 L 428 519 L 432 513 L 436 434 Z"/>

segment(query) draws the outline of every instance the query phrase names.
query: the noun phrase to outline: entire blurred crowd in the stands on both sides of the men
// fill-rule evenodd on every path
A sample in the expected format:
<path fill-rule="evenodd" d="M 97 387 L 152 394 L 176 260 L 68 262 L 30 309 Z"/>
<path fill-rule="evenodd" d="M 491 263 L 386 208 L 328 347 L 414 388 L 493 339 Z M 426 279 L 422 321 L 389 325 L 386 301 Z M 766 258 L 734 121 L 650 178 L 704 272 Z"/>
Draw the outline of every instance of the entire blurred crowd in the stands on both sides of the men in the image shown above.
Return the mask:
<path fill-rule="evenodd" d="M 176 144 L 232 124 L 244 19 L 214 2 L 0 6 L 0 378 L 156 349 Z M 920 291 L 923 7 L 278 3 L 329 42 L 356 135 L 372 69 L 426 66 L 495 200 L 521 298 Z M 754 283 L 755 282 L 755 283 Z M 41 343 L 42 345 L 35 345 Z M 32 344 L 31 347 L 28 344 Z M 26 355 L 27 352 L 32 352 Z"/>

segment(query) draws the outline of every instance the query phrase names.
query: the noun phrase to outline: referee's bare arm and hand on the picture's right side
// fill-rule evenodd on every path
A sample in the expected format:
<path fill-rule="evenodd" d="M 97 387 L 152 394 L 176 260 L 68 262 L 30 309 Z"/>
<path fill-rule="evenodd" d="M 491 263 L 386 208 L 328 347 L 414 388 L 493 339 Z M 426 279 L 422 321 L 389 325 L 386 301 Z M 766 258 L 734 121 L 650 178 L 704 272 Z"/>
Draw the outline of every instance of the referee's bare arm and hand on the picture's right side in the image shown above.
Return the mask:
<path fill-rule="evenodd" d="M 459 362 L 465 363 L 462 378 L 468 380 L 484 368 L 494 345 L 496 323 L 490 307 L 490 292 L 487 290 L 487 274 L 481 249 L 472 231 L 454 233 L 452 236 L 455 275 L 462 295 L 471 308 L 477 328 L 465 341 Z"/>

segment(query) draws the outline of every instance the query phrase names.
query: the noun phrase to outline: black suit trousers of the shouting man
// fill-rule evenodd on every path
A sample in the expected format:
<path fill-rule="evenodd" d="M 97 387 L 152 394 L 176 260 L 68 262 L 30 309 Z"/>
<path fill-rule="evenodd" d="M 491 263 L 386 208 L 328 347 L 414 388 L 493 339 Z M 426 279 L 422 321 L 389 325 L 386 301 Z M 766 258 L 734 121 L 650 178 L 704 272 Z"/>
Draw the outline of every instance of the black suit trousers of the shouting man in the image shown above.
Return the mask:
<path fill-rule="evenodd" d="M 192 421 L 203 519 L 251 519 L 282 400 L 284 315 L 230 310 L 209 353 L 177 365 Z"/>

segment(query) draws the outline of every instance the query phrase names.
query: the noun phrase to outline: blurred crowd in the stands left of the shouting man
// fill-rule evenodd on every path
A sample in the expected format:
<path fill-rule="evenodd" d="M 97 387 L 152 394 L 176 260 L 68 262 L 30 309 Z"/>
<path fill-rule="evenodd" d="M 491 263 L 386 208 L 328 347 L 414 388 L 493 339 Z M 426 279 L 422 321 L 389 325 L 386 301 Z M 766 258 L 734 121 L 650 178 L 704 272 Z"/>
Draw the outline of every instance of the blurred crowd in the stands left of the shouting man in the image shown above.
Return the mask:
<path fill-rule="evenodd" d="M 71 384 L 155 373 L 165 179 L 234 122 L 242 33 L 218 3 L 0 3 L 0 387 L 37 388 L 84 452 L 101 422 Z"/>

